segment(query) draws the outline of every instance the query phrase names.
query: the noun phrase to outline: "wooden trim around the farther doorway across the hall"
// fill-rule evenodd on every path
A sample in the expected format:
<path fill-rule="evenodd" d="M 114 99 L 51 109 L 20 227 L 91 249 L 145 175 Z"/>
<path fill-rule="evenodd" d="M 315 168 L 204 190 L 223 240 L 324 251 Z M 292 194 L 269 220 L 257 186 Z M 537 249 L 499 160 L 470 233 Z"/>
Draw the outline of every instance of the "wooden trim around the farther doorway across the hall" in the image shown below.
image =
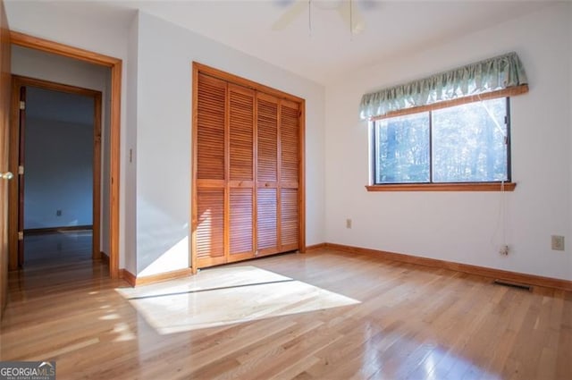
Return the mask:
<path fill-rule="evenodd" d="M 93 114 L 93 220 L 92 220 L 92 254 L 93 259 L 101 258 L 100 252 L 100 239 L 101 239 L 101 91 L 93 89 L 82 89 L 79 87 L 67 86 L 60 83 L 55 83 L 47 80 L 38 80 L 33 78 L 21 77 L 13 75 L 12 87 L 12 123 L 10 131 L 10 146 L 11 149 L 11 168 L 13 173 L 19 173 L 19 165 L 25 168 L 24 152 L 25 146 L 25 113 L 26 107 L 21 107 L 21 102 L 26 104 L 26 92 L 29 87 L 37 89 L 47 89 L 52 91 L 65 92 L 85 97 L 91 97 L 94 101 L 94 114 Z M 25 173 L 25 172 L 24 172 Z M 13 191 L 13 195 L 17 194 L 18 197 L 18 232 L 24 231 L 24 178 L 25 175 L 19 174 L 18 181 L 12 182 L 13 187 L 18 189 Z M 11 199 L 13 200 L 13 199 Z M 13 201 L 12 204 L 16 204 Z M 14 213 L 16 210 L 14 210 Z M 24 246 L 23 235 L 18 239 L 18 266 L 23 266 L 24 263 Z M 11 258 L 14 258 L 13 256 Z M 13 261 L 10 260 L 12 263 Z"/>

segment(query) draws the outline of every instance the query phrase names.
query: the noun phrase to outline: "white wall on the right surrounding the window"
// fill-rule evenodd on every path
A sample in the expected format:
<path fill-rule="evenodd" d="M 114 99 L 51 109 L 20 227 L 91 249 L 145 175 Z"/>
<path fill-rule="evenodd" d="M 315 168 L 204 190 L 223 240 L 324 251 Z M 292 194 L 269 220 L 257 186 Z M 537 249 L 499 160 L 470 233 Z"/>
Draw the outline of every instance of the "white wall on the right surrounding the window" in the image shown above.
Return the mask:
<path fill-rule="evenodd" d="M 327 86 L 325 241 L 572 280 L 570 7 L 556 4 Z M 364 93 L 509 51 L 523 61 L 530 92 L 511 99 L 517 189 L 506 194 L 511 252 L 502 257 L 501 193 L 365 190 L 367 123 L 357 106 Z M 565 252 L 551 250 L 551 234 L 566 236 Z"/>

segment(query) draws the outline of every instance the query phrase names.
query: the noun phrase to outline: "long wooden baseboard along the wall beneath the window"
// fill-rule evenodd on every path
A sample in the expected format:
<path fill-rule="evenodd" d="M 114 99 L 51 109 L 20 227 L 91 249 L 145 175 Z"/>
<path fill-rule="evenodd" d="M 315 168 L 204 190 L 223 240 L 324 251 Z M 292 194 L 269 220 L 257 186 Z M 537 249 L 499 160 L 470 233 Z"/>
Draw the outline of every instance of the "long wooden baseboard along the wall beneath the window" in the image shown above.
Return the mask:
<path fill-rule="evenodd" d="M 469 264 L 460 264 L 460 263 L 455 263 L 453 261 L 439 260 L 436 258 L 420 258 L 417 256 L 406 255 L 403 253 L 387 252 L 383 250 L 366 249 L 361 247 L 352 247 L 342 244 L 324 243 L 324 248 L 339 250 L 342 252 L 358 253 L 361 255 L 372 256 L 375 258 L 386 258 L 388 260 L 399 261 L 401 263 L 445 268 L 467 274 L 478 274 L 484 277 L 490 277 L 493 279 L 505 280 L 515 283 L 526 283 L 530 285 L 544 286 L 547 288 L 560 289 L 564 291 L 572 291 L 572 281 L 562 280 L 559 278 L 543 277 L 535 274 L 510 272 L 502 269 L 488 268 L 485 266 L 472 266 Z"/>

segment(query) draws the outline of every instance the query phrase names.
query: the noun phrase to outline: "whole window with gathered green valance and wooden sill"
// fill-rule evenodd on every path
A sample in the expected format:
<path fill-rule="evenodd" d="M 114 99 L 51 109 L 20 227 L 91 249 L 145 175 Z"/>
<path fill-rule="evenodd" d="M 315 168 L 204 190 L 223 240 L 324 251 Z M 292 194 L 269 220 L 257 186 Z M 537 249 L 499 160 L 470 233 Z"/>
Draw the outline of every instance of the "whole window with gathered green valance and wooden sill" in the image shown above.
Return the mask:
<path fill-rule="evenodd" d="M 369 191 L 514 190 L 509 97 L 528 92 L 517 53 L 366 93 Z"/>

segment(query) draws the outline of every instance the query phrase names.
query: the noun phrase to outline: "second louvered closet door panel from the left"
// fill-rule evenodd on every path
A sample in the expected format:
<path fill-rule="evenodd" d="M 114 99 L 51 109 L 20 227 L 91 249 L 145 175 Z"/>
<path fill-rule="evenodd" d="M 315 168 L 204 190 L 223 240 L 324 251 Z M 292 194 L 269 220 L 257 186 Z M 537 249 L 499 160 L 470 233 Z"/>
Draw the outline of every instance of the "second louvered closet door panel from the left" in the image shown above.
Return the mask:
<path fill-rule="evenodd" d="M 255 93 L 229 84 L 229 255 L 255 256 Z"/>

